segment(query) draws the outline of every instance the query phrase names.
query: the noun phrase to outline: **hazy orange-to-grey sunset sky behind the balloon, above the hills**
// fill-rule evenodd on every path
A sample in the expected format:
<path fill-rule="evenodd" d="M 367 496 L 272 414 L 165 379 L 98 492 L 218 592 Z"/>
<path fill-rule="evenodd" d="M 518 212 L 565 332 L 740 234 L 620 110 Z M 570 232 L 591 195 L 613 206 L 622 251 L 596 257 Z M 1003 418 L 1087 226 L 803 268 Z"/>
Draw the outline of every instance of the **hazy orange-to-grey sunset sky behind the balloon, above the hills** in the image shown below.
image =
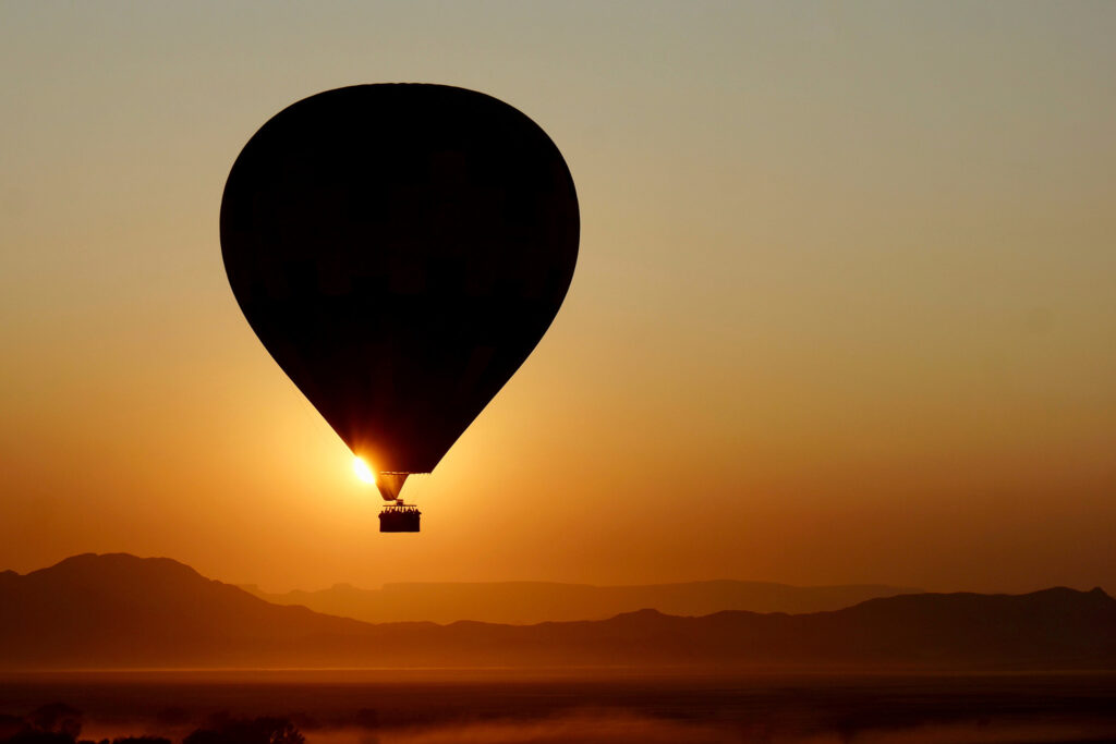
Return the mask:
<path fill-rule="evenodd" d="M 0 1 L 0 569 L 1116 592 L 1116 4 Z M 224 180 L 289 104 L 493 95 L 577 272 L 381 499 L 256 339 Z"/>

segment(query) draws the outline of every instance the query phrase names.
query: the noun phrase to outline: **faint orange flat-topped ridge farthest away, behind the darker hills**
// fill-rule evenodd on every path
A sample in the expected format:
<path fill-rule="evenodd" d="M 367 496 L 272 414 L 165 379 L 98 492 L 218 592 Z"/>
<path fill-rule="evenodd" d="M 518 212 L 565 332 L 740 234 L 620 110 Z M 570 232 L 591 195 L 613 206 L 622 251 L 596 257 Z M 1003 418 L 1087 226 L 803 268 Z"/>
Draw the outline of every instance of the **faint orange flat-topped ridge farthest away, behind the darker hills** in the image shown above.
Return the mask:
<path fill-rule="evenodd" d="M 866 599 L 920 593 L 883 584 L 792 587 L 764 581 L 691 581 L 632 587 L 595 587 L 545 581 L 492 583 L 387 583 L 357 589 L 339 583 L 321 591 L 271 595 L 242 586 L 276 605 L 301 605 L 318 612 L 366 622 L 478 620 L 509 625 L 604 620 L 622 612 L 655 609 L 665 615 L 711 615 L 722 610 L 819 612 Z"/>

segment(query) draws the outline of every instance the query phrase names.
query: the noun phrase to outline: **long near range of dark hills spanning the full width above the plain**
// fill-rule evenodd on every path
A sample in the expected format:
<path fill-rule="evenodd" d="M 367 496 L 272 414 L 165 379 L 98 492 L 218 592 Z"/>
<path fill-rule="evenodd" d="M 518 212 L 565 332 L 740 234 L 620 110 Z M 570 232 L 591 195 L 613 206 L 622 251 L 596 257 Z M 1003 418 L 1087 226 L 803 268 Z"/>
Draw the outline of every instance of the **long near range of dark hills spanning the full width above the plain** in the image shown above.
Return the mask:
<path fill-rule="evenodd" d="M 369 625 L 271 605 L 169 559 L 77 555 L 0 573 L 0 668 L 1116 669 L 1116 600 L 905 595 L 805 615 L 655 610 L 509 626 Z"/>

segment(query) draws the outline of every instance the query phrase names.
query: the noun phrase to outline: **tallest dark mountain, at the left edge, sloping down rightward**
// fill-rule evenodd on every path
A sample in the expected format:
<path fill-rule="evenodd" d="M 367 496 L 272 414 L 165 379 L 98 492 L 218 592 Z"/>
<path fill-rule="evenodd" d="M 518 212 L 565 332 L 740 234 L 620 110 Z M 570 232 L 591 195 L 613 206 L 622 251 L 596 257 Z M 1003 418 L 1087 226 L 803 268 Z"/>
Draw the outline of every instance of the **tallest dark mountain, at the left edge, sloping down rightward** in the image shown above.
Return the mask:
<path fill-rule="evenodd" d="M 75 555 L 0 574 L 0 666 L 250 664 L 253 654 L 364 624 L 277 607 L 167 558 Z"/>

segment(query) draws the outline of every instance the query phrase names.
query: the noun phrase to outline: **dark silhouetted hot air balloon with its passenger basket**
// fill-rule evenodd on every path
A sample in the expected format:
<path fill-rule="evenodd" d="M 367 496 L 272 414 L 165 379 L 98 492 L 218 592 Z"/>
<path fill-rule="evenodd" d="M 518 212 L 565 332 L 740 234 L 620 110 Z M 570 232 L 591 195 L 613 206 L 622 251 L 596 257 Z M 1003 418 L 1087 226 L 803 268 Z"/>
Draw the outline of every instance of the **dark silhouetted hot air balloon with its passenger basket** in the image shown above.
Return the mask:
<path fill-rule="evenodd" d="M 569 170 L 491 96 L 359 85 L 281 110 L 221 202 L 233 294 L 385 501 L 430 473 L 554 320 L 577 262 Z"/>

